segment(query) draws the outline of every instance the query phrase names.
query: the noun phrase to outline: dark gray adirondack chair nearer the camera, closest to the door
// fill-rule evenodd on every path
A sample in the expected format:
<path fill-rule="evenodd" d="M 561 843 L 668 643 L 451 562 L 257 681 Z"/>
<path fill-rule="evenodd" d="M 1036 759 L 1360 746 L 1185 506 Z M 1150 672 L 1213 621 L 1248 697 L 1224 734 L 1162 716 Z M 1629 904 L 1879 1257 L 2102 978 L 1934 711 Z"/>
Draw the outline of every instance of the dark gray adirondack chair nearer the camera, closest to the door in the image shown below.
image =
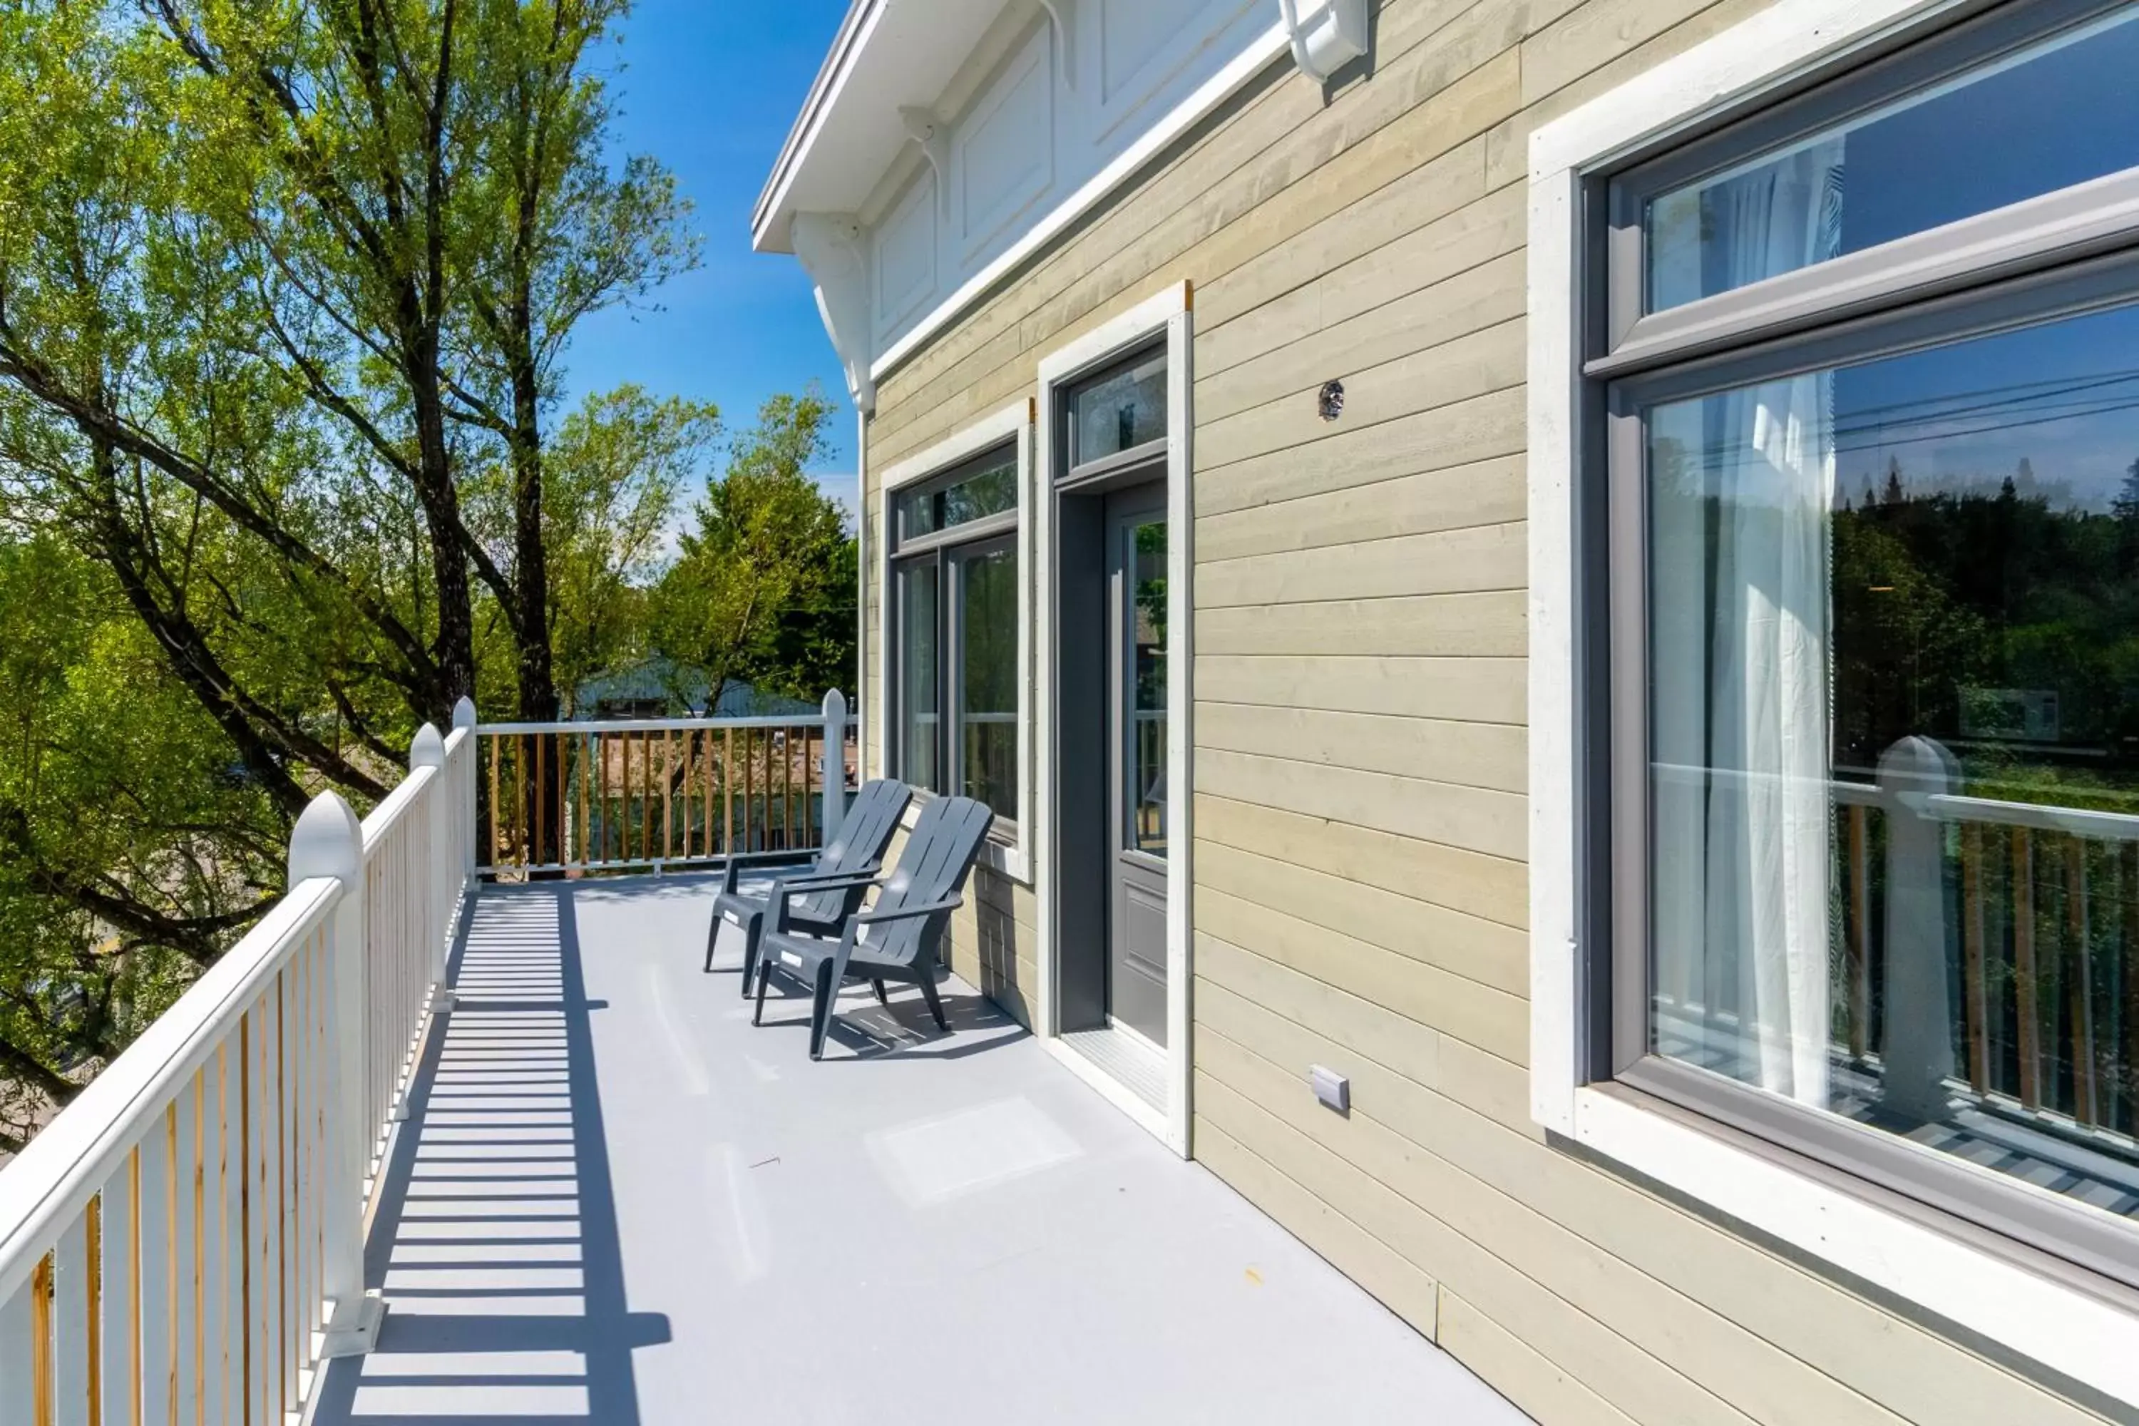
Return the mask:
<path fill-rule="evenodd" d="M 920 986 L 937 1028 L 948 1030 L 943 1001 L 935 975 L 943 930 L 950 913 L 963 902 L 965 879 L 980 857 L 995 812 L 971 797 L 937 797 L 922 808 L 898 866 L 881 879 L 877 900 L 856 915 L 834 936 L 813 936 L 796 926 L 789 906 L 798 898 L 774 902 L 772 926 L 766 928 L 757 956 L 757 1007 L 751 1024 L 766 1013 L 766 986 L 772 973 L 789 975 L 813 992 L 809 1020 L 809 1056 L 824 1058 L 824 1037 L 832 1028 L 832 1001 L 849 981 L 871 981 L 877 1001 L 890 1003 L 883 981 Z"/>

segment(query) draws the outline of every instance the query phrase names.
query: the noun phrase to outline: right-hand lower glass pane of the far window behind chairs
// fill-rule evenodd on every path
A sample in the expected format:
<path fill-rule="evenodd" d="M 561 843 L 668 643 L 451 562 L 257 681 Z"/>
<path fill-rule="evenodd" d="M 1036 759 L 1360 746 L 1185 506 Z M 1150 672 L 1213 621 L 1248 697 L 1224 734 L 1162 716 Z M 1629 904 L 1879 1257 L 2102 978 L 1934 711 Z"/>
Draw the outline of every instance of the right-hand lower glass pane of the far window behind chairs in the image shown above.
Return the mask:
<path fill-rule="evenodd" d="M 1018 815 L 1018 552 L 958 558 L 958 791 Z"/>

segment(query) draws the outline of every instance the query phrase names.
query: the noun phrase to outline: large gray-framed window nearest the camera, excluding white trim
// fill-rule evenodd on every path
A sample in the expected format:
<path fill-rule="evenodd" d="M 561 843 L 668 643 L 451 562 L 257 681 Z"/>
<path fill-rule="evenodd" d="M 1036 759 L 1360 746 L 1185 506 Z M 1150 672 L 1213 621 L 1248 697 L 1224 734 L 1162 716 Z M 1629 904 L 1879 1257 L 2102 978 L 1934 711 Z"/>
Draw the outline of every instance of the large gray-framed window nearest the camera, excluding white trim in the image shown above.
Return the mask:
<path fill-rule="evenodd" d="M 2135 73 L 2011 4 L 1598 177 L 1587 323 L 1591 1075 L 2128 1283 Z"/>

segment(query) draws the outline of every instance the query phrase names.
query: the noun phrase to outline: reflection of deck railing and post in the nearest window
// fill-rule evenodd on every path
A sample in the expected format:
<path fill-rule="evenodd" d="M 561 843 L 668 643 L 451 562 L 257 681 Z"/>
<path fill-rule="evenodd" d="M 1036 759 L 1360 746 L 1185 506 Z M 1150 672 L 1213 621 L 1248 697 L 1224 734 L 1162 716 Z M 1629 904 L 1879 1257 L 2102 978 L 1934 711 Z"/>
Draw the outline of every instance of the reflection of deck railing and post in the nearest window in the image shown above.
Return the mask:
<path fill-rule="evenodd" d="M 1653 778 L 1709 802 L 1775 780 Z M 1825 793 L 1820 1107 L 2139 1216 L 2139 815 L 1970 795 L 1929 738 Z M 1788 1030 L 1750 1009 L 1756 971 L 1703 981 L 1696 962 L 1658 958 L 1651 1048 L 1748 1080 Z"/>

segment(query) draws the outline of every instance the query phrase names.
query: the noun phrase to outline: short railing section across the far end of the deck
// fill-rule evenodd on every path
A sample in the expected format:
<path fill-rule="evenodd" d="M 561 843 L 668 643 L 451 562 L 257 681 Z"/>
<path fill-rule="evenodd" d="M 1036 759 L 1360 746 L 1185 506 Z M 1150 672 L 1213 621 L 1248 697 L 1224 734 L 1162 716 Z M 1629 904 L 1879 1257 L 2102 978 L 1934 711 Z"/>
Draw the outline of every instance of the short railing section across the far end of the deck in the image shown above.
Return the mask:
<path fill-rule="evenodd" d="M 477 729 L 481 872 L 678 868 L 809 851 L 847 793 L 847 699 L 811 718 L 616 718 Z"/>

